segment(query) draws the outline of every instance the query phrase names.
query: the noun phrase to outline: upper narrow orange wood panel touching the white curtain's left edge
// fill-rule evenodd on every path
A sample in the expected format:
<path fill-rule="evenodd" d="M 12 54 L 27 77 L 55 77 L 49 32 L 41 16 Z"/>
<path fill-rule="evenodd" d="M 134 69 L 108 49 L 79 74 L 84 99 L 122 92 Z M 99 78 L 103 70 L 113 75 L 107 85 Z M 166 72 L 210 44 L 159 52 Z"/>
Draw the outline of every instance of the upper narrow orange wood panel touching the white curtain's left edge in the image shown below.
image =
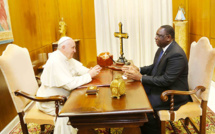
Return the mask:
<path fill-rule="evenodd" d="M 95 39 L 94 0 L 82 0 L 84 38 Z"/>

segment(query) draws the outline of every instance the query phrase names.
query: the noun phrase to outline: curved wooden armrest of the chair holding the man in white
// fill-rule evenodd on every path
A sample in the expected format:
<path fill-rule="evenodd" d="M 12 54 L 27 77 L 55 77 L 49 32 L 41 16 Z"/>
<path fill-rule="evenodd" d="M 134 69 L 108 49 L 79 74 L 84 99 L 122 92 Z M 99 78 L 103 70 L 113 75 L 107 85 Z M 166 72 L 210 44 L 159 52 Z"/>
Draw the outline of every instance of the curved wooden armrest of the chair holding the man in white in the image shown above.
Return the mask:
<path fill-rule="evenodd" d="M 25 92 L 20 91 L 20 90 L 16 90 L 14 92 L 14 94 L 16 96 L 22 96 L 22 97 L 25 97 L 27 99 L 30 99 L 33 101 L 38 101 L 38 102 L 58 101 L 58 102 L 60 102 L 61 105 L 63 105 L 67 100 L 67 98 L 65 96 L 56 95 L 56 96 L 50 96 L 50 97 L 37 97 L 37 96 L 30 95 L 30 94 L 25 93 Z"/>

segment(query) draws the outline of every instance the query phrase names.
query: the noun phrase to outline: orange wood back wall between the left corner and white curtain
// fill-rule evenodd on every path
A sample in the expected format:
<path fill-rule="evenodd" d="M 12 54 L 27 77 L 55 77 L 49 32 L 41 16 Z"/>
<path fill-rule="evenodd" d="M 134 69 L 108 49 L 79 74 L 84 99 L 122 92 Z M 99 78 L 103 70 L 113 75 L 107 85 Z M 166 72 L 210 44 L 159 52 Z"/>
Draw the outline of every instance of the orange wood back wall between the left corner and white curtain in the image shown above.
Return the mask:
<path fill-rule="evenodd" d="M 97 63 L 93 0 L 58 0 L 60 18 L 68 25 L 68 36 L 80 39 L 80 61 L 87 67 Z"/>

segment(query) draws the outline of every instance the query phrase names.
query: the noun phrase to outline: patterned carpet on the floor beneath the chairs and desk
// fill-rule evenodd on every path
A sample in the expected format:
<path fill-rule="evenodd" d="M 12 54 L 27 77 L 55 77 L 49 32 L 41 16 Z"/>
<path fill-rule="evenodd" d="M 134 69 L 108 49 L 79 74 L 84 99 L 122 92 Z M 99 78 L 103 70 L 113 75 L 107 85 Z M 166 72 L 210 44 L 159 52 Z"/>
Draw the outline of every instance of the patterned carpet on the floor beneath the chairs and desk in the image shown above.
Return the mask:
<path fill-rule="evenodd" d="M 199 125 L 199 123 L 200 123 L 199 118 L 194 118 L 193 120 L 196 122 L 197 125 Z M 206 133 L 215 134 L 215 114 L 213 113 L 213 111 L 210 108 L 207 109 L 206 122 L 207 122 L 207 125 L 206 125 L 207 132 Z M 184 127 L 182 125 L 183 121 L 180 120 L 180 121 L 174 122 L 174 124 L 175 124 L 179 134 L 187 134 L 186 130 L 184 129 Z M 50 134 L 53 129 L 54 129 L 54 126 L 46 125 L 45 134 Z M 190 124 L 188 125 L 188 129 L 190 130 L 190 132 L 192 134 L 196 134 L 195 130 L 193 129 L 193 127 Z M 40 126 L 37 124 L 34 124 L 34 123 L 30 123 L 30 124 L 28 124 L 28 131 L 29 131 L 29 134 L 39 134 Z M 95 129 L 95 134 L 106 134 L 109 131 L 112 134 L 119 134 L 120 132 L 123 131 L 123 128 L 115 128 L 115 129 L 110 129 L 110 130 L 104 129 L 104 128 Z M 19 123 L 13 128 L 13 130 L 10 132 L 10 134 L 22 134 L 21 126 Z M 174 134 L 174 131 L 169 122 L 166 122 L 166 134 Z"/>

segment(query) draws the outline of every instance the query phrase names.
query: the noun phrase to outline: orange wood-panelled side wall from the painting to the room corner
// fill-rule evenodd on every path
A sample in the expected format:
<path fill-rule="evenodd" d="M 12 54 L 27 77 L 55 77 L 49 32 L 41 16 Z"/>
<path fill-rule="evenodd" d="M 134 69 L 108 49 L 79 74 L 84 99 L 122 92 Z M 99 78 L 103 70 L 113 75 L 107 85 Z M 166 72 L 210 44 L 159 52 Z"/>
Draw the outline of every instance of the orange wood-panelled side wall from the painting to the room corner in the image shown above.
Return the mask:
<path fill-rule="evenodd" d="M 32 61 L 57 40 L 59 12 L 57 1 L 9 0 L 14 44 L 26 47 Z M 25 7 L 25 8 L 23 8 Z M 38 51 L 40 50 L 40 51 Z M 3 51 L 0 48 L 0 51 Z M 46 51 L 51 52 L 52 49 Z"/>

